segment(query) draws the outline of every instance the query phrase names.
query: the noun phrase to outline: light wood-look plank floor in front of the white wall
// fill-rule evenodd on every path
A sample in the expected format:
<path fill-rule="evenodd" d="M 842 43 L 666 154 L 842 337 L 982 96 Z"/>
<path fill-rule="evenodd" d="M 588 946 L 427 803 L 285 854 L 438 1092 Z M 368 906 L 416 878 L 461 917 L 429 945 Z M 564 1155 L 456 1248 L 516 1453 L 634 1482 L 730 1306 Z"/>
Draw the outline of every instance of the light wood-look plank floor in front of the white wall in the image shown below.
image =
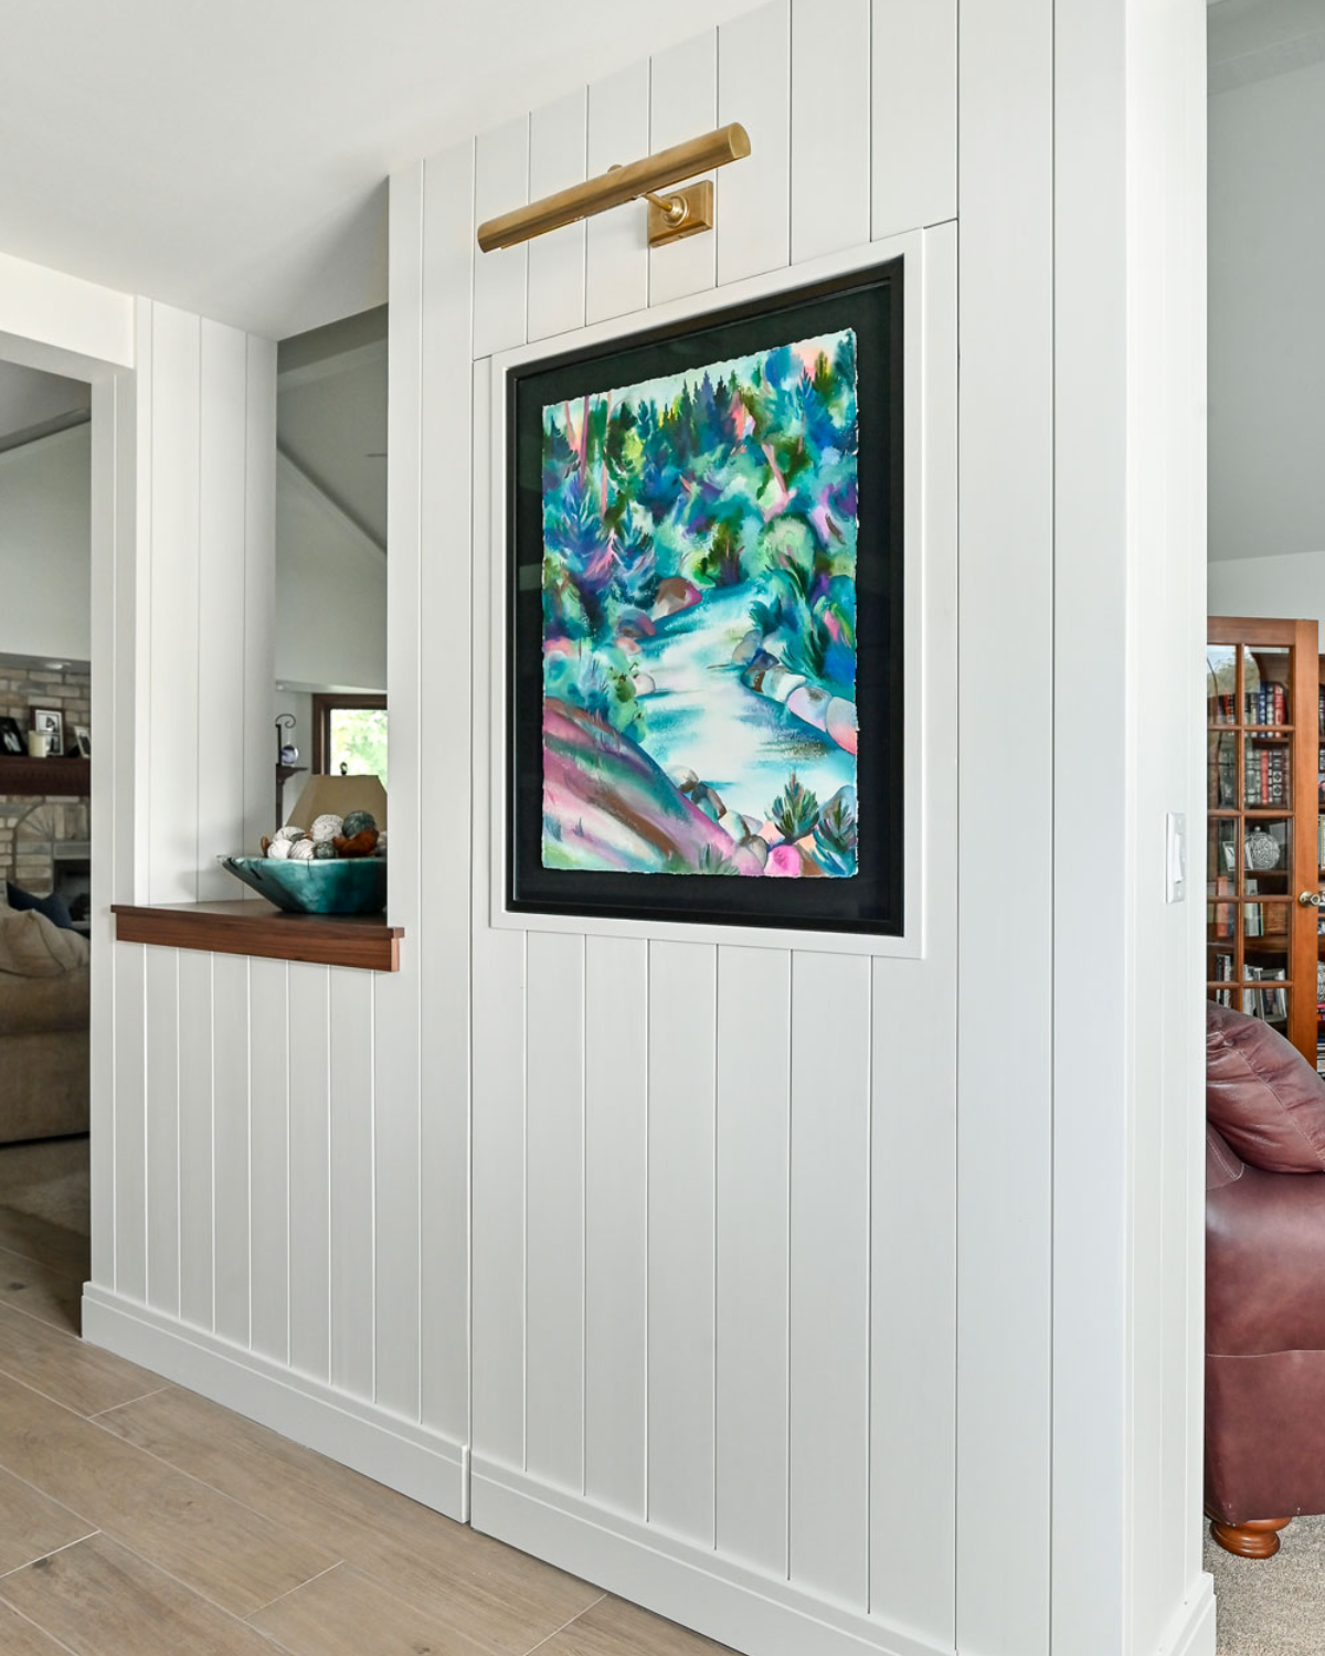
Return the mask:
<path fill-rule="evenodd" d="M 720 1656 L 83 1345 L 86 1270 L 0 1181 L 7 1656 Z"/>

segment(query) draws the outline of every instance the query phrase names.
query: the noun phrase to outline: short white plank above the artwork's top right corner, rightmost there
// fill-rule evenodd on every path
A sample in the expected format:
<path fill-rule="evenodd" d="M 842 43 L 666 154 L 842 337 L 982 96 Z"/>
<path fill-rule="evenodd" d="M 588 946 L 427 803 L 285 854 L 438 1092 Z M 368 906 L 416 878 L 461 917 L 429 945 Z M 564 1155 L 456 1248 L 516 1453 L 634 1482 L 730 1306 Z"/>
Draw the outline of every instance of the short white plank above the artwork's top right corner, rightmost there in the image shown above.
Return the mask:
<path fill-rule="evenodd" d="M 957 214 L 957 0 L 873 0 L 871 230 Z"/>

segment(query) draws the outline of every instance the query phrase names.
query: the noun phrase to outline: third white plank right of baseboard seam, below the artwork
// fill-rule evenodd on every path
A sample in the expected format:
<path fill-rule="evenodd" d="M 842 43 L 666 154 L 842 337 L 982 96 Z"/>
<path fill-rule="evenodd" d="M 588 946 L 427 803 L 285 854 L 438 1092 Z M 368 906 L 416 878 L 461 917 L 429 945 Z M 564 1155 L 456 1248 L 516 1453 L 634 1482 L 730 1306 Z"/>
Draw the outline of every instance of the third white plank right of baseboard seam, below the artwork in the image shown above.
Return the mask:
<path fill-rule="evenodd" d="M 585 939 L 585 1494 L 644 1517 L 649 946 Z"/>

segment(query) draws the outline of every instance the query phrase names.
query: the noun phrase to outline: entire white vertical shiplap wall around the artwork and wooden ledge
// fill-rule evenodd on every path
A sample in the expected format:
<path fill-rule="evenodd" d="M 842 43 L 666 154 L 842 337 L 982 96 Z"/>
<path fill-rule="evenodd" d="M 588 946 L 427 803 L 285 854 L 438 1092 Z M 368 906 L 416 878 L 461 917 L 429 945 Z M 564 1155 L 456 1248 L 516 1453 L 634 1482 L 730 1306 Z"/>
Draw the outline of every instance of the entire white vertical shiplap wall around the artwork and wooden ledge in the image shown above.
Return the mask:
<path fill-rule="evenodd" d="M 1189 13 L 1191 33 L 1192 7 L 1164 0 L 1164 18 Z M 1101 129 L 1077 99 L 1088 86 L 1116 116 L 1098 83 L 1121 61 L 1111 22 L 1010 0 L 966 7 L 959 38 L 956 0 L 773 0 L 398 174 L 391 904 L 404 969 L 106 951 L 114 1095 L 98 1076 L 96 1110 L 113 1154 L 94 1159 L 91 1336 L 452 1514 L 472 1446 L 482 1527 L 760 1656 L 1148 1656 L 1164 1613 L 1164 1649 L 1204 1651 L 1211 1633 L 1196 1575 L 1199 1328 L 1183 1323 L 1199 1297 L 1184 1141 L 1199 1098 L 1183 1091 L 1199 1055 L 1181 1037 L 1166 1047 L 1166 1116 L 1138 1116 L 1144 1177 L 1125 1209 L 1118 1181 L 1136 1174 L 1113 1070 L 1096 1066 L 1086 1108 L 1077 1045 L 1053 1048 L 1055 1017 L 1067 1030 L 1090 1013 L 1053 975 L 1048 869 L 1057 856 L 1067 879 L 1096 841 L 1073 838 L 1077 795 L 1053 790 L 1048 742 L 1007 717 L 1083 696 L 1055 629 L 1093 661 L 1108 626 L 1121 684 L 1136 624 L 1105 619 L 1073 563 L 1073 512 L 1103 533 L 1086 440 L 1100 411 L 1075 381 L 1055 432 L 1055 346 L 1063 364 L 1100 351 L 1083 321 L 1095 313 L 1073 310 L 1100 293 L 1080 204 L 1101 179 L 1118 187 L 1118 156 L 1098 177 L 1083 166 L 1077 139 L 1098 146 Z M 1179 30 L 1166 50 L 1191 66 Z M 1148 83 L 1161 103 L 1166 89 Z M 475 255 L 485 214 L 714 119 L 742 119 L 755 144 L 717 177 L 714 237 L 651 255 L 626 209 Z M 485 866 L 464 851 L 465 835 L 489 843 L 489 356 L 919 225 L 932 277 L 951 268 L 959 172 L 961 479 L 956 492 L 929 480 L 926 535 L 951 546 L 961 505 L 962 550 L 959 595 L 931 560 L 924 960 L 494 931 Z M 1191 176 L 1174 174 L 1184 189 Z M 1083 240 L 1065 253 L 1055 233 Z M 954 303 L 931 283 L 923 298 L 932 313 Z M 957 412 L 954 344 L 928 335 L 936 454 Z M 237 765 L 245 816 L 252 803 L 265 826 L 263 349 L 245 344 L 242 484 L 225 330 L 139 305 L 136 416 L 116 381 L 137 475 L 129 445 L 129 475 L 114 455 L 99 487 L 114 485 L 126 522 L 134 482 L 151 503 L 136 550 L 116 553 L 136 558 L 114 598 L 136 608 L 142 687 L 114 710 L 134 782 L 116 793 L 118 896 L 199 889 L 199 853 L 238 826 Z M 1111 437 L 1120 417 L 1110 404 Z M 1055 437 L 1075 459 L 1055 460 Z M 1174 454 L 1169 487 L 1189 470 Z M 242 611 L 224 578 L 238 487 Z M 1100 555 L 1115 550 L 1103 537 Z M 1169 556 L 1173 598 L 1191 558 L 1176 543 Z M 1116 581 L 1100 593 L 1115 604 Z M 214 611 L 225 628 L 204 647 Z M 1148 659 L 1173 662 L 1176 691 L 1181 616 L 1156 606 L 1151 619 Z M 237 684 L 238 755 L 214 724 Z M 204 775 L 204 725 L 227 788 Z M 1055 740 L 1067 780 L 1067 727 Z M 1156 773 L 1136 798 L 1153 815 L 1166 788 Z M 1196 821 L 1196 785 L 1188 808 Z M 152 813 L 159 840 L 132 831 Z M 1149 815 L 1126 830 L 1146 856 Z M 992 894 L 1014 835 L 1043 876 L 1019 886 L 1010 916 Z M 1098 843 L 1116 850 L 1116 835 Z M 1128 901 L 1138 891 L 1151 886 Z M 1181 916 L 1164 924 L 1179 982 Z M 1067 914 L 1058 926 L 1077 946 Z M 1184 1004 L 1164 1007 L 1181 1030 Z M 1093 1143 L 1090 1111 L 1111 1133 L 1106 1186 L 1075 1154 Z M 1153 1270 L 1153 1254 L 1138 1259 L 1128 1288 L 1121 1262 L 1143 1232 L 1163 1257 Z M 1149 1365 L 1140 1427 L 1130 1361 Z M 1140 1464 L 1156 1434 L 1163 1461 L 1125 1474 L 1115 1449 Z M 1096 1487 L 1113 1515 L 1100 1550 L 1083 1499 Z M 1136 1537 L 1130 1560 L 1120 1528 Z"/>

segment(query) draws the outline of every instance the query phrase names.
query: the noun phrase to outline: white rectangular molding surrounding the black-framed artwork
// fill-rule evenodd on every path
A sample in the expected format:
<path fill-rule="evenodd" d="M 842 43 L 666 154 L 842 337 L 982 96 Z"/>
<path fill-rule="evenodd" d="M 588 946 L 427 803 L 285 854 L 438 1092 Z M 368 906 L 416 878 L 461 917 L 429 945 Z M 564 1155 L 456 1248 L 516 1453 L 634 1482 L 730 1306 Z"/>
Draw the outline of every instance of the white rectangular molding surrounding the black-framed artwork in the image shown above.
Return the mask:
<path fill-rule="evenodd" d="M 906 787 L 903 843 L 906 871 L 903 883 L 904 932 L 878 937 L 855 932 L 805 931 L 795 927 L 687 924 L 686 921 L 634 921 L 593 914 L 528 914 L 507 907 L 507 376 L 515 368 L 556 356 L 563 351 L 591 349 L 603 344 L 628 344 L 631 335 L 704 316 L 729 305 L 768 298 L 831 277 L 865 270 L 891 258 L 903 260 L 903 682 L 906 712 L 903 734 L 903 775 Z M 810 260 L 785 270 L 734 282 L 729 286 L 631 311 L 611 321 L 578 328 L 502 351 L 492 358 L 492 532 L 489 542 L 490 576 L 490 725 L 494 765 L 490 780 L 490 919 L 497 929 L 570 932 L 573 936 L 654 937 L 676 942 L 730 944 L 759 949 L 813 949 L 828 954 L 866 954 L 893 959 L 921 959 L 924 954 L 924 826 L 928 747 L 932 732 L 923 705 L 924 633 L 928 613 L 928 548 L 924 545 L 923 498 L 932 469 L 951 475 L 956 490 L 956 454 L 932 454 L 924 424 L 924 338 L 929 328 L 956 333 L 957 316 L 929 318 L 924 313 L 924 235 L 906 235 L 865 242 L 826 258 Z M 497 762 L 500 758 L 500 762 Z"/>

